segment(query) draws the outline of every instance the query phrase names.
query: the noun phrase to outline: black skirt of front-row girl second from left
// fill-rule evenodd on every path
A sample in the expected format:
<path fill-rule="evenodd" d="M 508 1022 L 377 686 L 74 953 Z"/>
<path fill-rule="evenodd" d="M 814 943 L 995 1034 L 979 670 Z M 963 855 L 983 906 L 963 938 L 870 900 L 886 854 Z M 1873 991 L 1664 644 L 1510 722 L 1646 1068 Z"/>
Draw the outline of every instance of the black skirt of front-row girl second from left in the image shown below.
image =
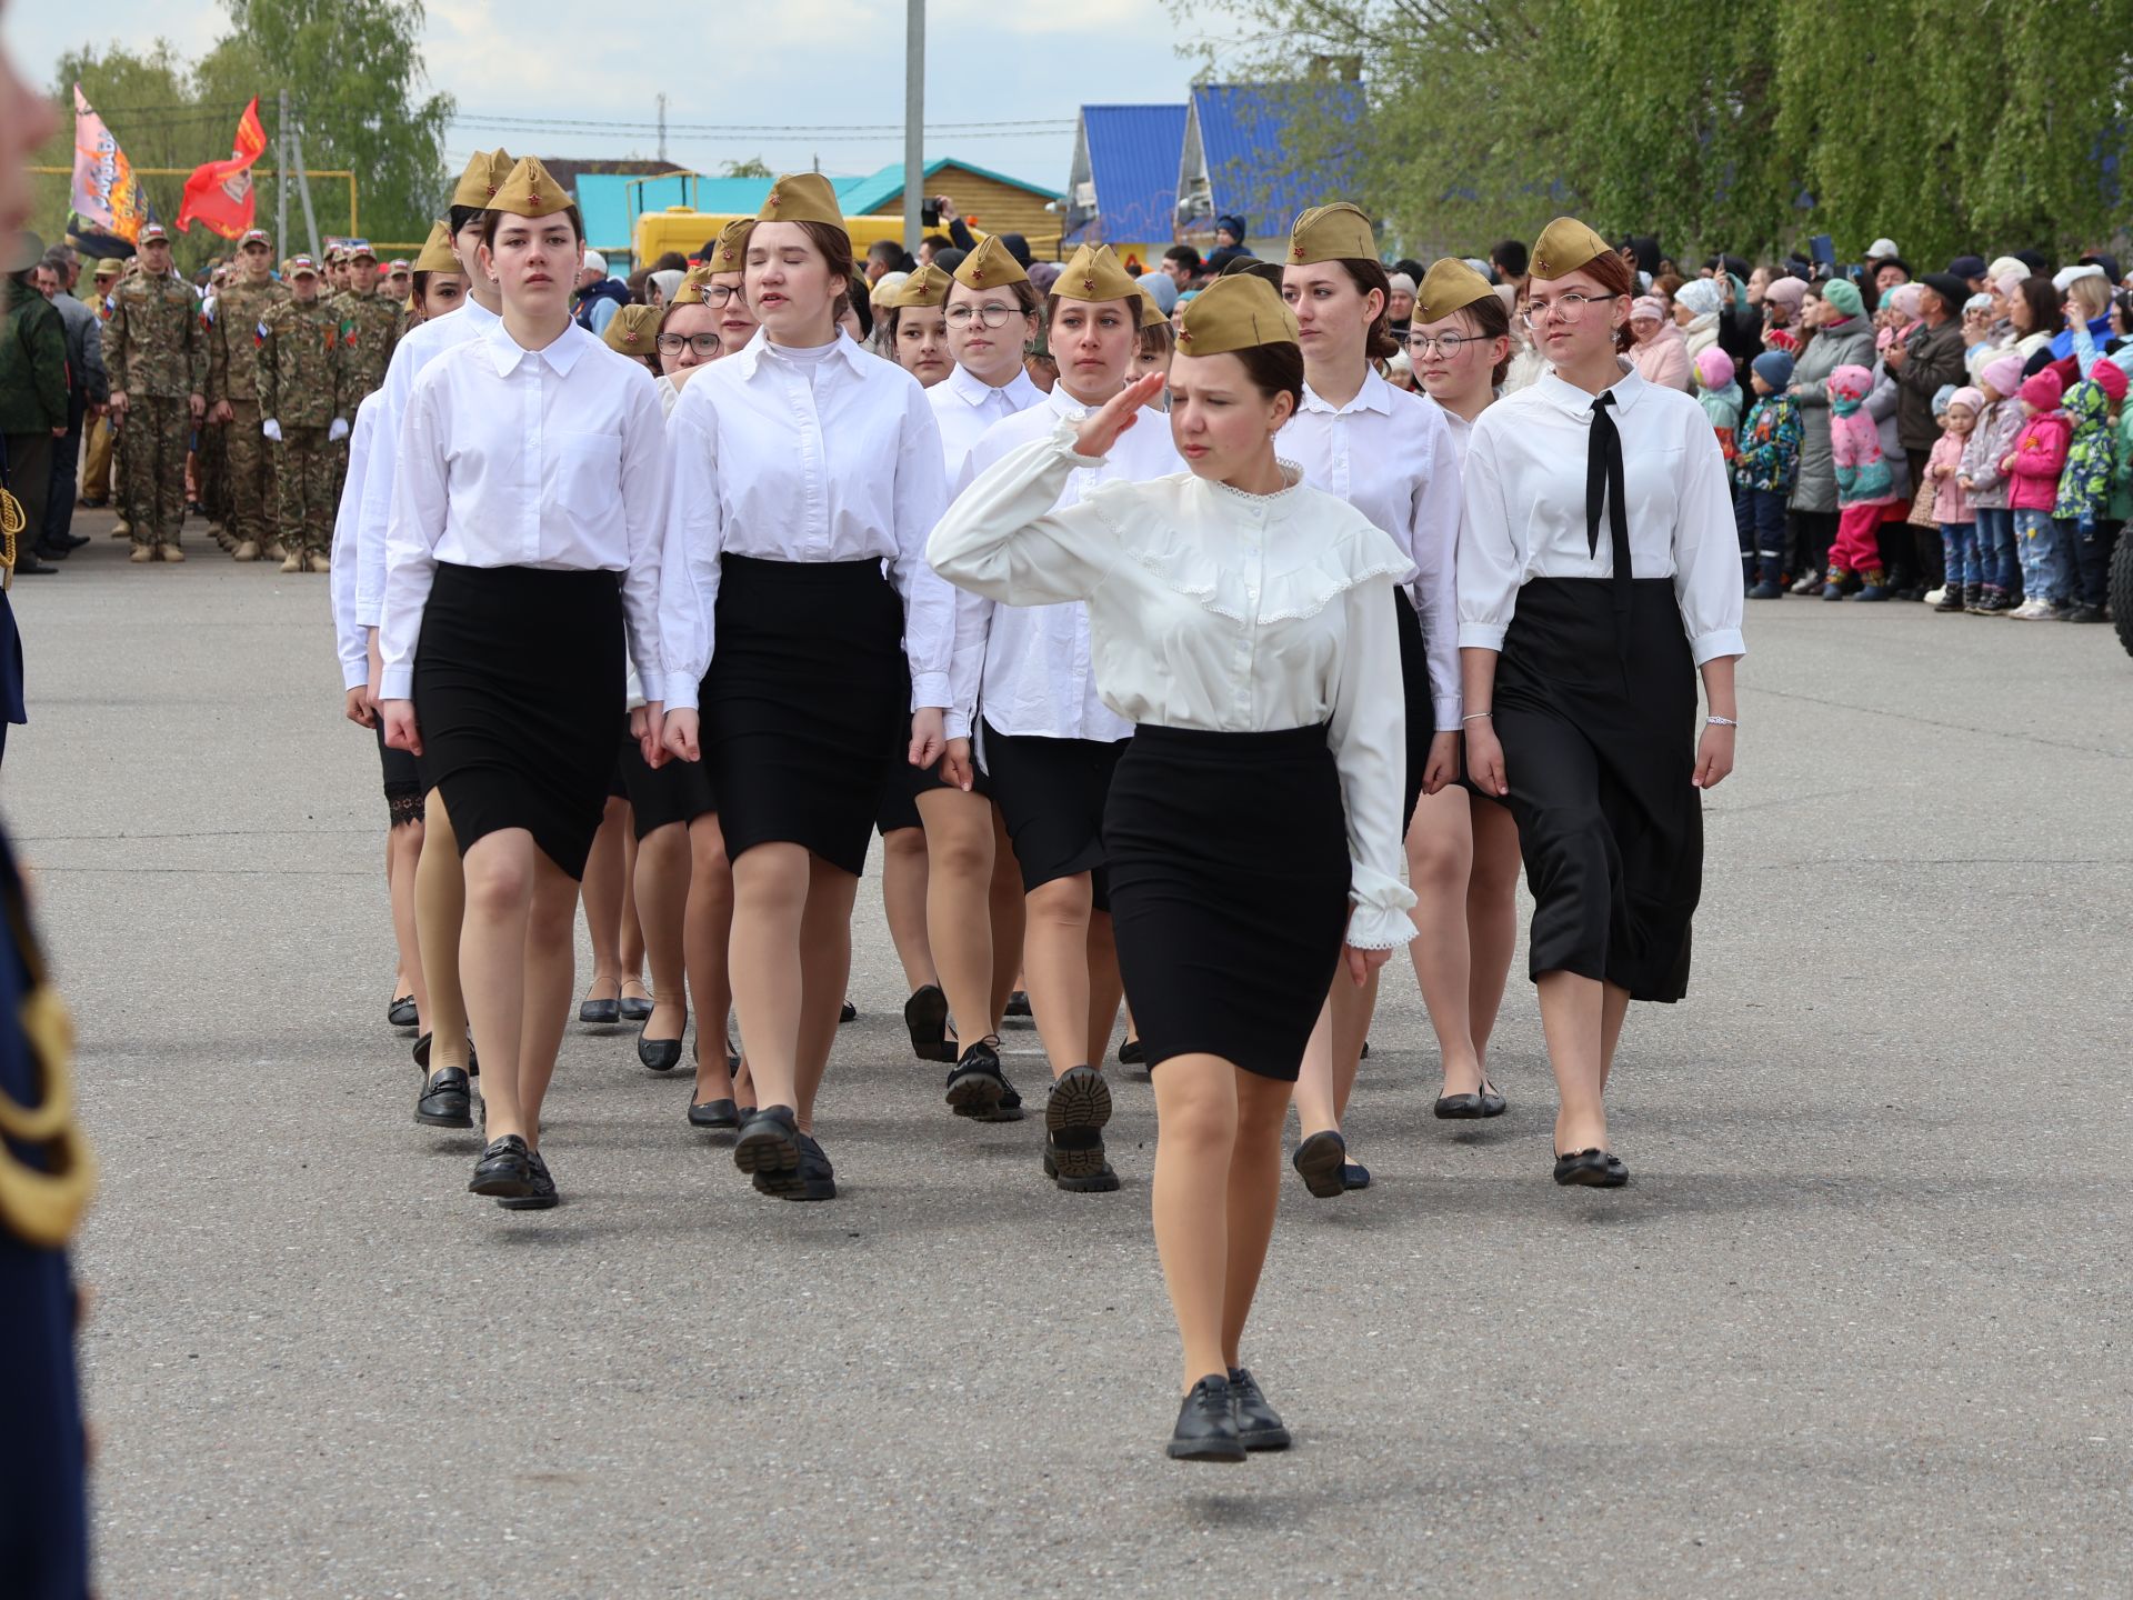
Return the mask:
<path fill-rule="evenodd" d="M 866 870 L 909 717 L 902 638 L 881 561 L 721 559 L 700 704 L 729 858 L 789 843 Z"/>

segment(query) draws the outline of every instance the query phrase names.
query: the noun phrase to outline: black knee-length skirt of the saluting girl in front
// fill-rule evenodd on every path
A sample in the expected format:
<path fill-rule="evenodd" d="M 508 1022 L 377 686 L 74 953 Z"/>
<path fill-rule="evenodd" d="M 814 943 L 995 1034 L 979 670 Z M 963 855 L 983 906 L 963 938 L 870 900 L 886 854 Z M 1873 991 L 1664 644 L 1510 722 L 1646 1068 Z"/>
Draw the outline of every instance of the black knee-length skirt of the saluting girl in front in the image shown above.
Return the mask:
<path fill-rule="evenodd" d="M 1348 815 L 1325 727 L 1143 723 L 1103 843 L 1150 1067 L 1207 1054 L 1297 1082 L 1348 930 Z"/>

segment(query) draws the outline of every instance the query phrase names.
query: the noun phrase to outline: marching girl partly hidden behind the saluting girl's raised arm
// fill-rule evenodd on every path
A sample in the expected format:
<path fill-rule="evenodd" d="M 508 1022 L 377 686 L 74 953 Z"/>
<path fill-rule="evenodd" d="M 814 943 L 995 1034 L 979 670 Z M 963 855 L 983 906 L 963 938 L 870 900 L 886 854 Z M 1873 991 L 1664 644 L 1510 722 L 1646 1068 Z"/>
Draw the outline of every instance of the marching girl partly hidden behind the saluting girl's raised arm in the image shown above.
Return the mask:
<path fill-rule="evenodd" d="M 1043 405 L 994 422 L 971 448 L 966 476 L 1116 399 L 1133 373 L 1141 305 L 1141 286 L 1111 247 L 1081 245 L 1052 286 L 1045 339 L 1058 361 L 1058 384 Z M 1154 382 L 1143 386 L 1143 397 L 1154 393 Z M 1162 478 L 1177 467 L 1177 448 L 1160 425 L 1135 429 L 1105 461 L 1066 474 L 1058 503 L 1079 503 L 1098 482 Z M 1088 608 L 1075 599 L 960 606 L 956 661 L 964 674 L 981 663 L 975 685 L 958 678 L 956 708 L 968 710 L 975 687 L 977 755 L 992 779 L 1028 900 L 1024 977 L 1052 1062 L 1045 1175 L 1060 1188 L 1109 1193 L 1118 1188 L 1103 1148 L 1111 1088 L 1098 1062 L 1118 1018 L 1120 979 L 1103 815 L 1133 723 L 1098 693 Z M 983 1111 L 1005 1092 L 998 1058 L 966 1047 L 949 1075 L 949 1105 Z"/>

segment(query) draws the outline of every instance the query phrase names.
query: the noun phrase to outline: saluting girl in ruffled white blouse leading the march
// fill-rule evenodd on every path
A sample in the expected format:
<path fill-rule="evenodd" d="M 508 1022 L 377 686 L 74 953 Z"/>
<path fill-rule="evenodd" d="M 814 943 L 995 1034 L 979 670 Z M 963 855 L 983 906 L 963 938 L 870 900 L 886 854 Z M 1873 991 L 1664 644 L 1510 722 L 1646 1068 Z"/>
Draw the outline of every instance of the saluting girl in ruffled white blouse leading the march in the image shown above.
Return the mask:
<path fill-rule="evenodd" d="M 1062 378 L 1075 348 L 1060 341 Z M 1169 429 L 1190 471 L 1062 506 L 1077 471 L 1162 429 L 1143 410 L 1158 382 L 1003 457 L 930 555 L 1003 606 L 1086 604 L 1103 695 L 1137 723 L 1105 847 L 1156 1088 L 1156 1248 L 1184 1346 L 1169 1453 L 1241 1461 L 1288 1444 L 1239 1346 L 1297 1062 L 1344 943 L 1340 981 L 1359 986 L 1414 937 L 1393 614 L 1412 559 L 1276 459 L 1303 356 L 1295 316 L 1258 277 L 1218 279 L 1186 309 Z"/>

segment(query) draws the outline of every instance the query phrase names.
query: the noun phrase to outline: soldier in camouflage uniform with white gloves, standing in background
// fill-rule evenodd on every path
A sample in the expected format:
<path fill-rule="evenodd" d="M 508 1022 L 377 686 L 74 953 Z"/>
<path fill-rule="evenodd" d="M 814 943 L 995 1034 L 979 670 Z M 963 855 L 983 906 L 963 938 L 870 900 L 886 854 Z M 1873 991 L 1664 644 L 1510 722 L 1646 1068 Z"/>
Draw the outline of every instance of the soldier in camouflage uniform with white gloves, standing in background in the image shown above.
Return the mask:
<path fill-rule="evenodd" d="M 333 544 L 333 448 L 348 437 L 354 399 L 341 316 L 318 297 L 318 262 L 288 265 L 290 299 L 258 324 L 258 407 L 275 448 L 273 480 L 282 523 L 282 572 L 324 572 Z"/>

